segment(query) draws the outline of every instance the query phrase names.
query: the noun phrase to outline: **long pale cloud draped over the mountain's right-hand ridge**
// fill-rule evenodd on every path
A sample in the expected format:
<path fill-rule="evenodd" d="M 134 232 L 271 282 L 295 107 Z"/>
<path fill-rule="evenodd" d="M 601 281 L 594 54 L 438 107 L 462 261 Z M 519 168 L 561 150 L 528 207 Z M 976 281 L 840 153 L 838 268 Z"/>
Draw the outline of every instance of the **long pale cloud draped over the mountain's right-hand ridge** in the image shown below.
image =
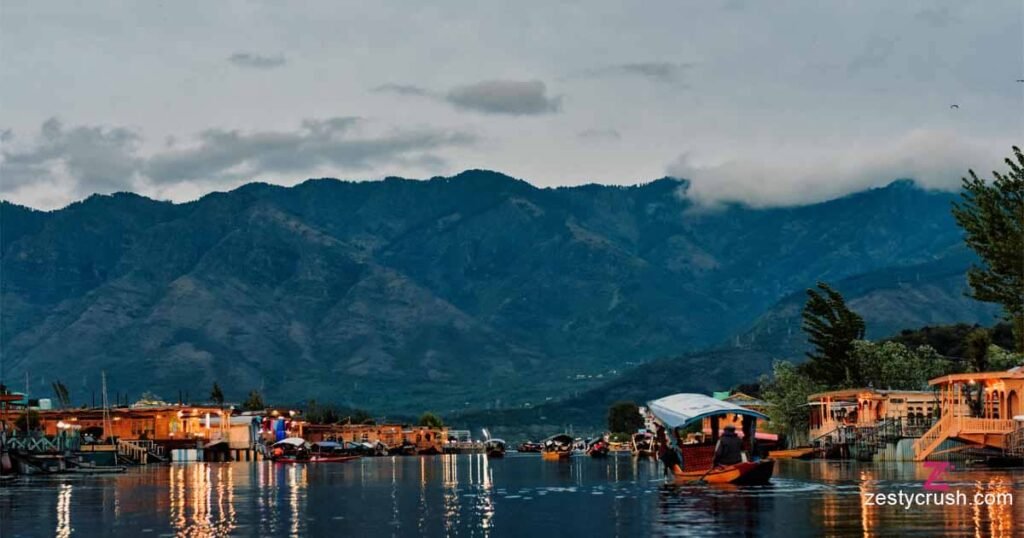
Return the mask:
<path fill-rule="evenodd" d="M 690 179 L 686 196 L 706 205 L 787 206 L 820 202 L 901 178 L 927 189 L 954 190 L 969 168 L 985 170 L 1000 163 L 1009 149 L 1009 143 L 962 138 L 954 131 L 915 130 L 874 146 L 817 152 L 804 148 L 795 155 L 769 158 L 701 164 L 682 155 L 668 167 L 668 173 Z"/>

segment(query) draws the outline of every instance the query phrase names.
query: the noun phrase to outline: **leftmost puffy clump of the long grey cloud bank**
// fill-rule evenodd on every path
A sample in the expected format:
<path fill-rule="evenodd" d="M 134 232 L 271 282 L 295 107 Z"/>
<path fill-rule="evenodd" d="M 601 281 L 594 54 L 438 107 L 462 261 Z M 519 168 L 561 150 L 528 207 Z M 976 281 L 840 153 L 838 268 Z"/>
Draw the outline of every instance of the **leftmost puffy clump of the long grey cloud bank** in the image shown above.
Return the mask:
<path fill-rule="evenodd" d="M 55 118 L 40 128 L 27 148 L 5 148 L 0 156 L 0 190 L 45 181 L 54 174 L 75 178 L 77 192 L 128 189 L 135 178 L 139 135 L 123 127 L 79 126 L 66 129 Z"/>

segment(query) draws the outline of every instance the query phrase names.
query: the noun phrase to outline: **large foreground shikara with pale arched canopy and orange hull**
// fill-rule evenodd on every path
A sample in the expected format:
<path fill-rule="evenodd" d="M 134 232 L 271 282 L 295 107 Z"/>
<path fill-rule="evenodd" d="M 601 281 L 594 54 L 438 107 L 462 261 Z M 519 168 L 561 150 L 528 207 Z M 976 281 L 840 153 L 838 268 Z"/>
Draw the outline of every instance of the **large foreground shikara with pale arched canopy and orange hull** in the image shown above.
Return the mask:
<path fill-rule="evenodd" d="M 672 473 L 677 483 L 707 482 L 709 484 L 763 485 L 768 484 L 775 469 L 775 460 L 759 459 L 755 454 L 757 419 L 768 420 L 763 413 L 746 409 L 736 404 L 716 400 L 697 394 L 668 396 L 647 404 L 654 418 L 673 434 L 672 447 L 681 455 L 682 464 L 675 464 Z M 738 462 L 713 465 L 716 445 L 701 443 L 680 445 L 678 430 L 690 424 L 702 422 L 705 418 L 738 415 L 743 419 L 742 454 Z"/>

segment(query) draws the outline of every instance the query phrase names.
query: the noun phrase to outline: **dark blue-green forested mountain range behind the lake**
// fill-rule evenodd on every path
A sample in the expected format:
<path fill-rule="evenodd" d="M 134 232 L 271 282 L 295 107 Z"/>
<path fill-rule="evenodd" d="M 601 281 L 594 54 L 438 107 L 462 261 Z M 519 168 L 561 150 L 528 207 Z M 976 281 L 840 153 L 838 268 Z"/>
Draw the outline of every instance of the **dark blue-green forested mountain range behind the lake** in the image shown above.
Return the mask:
<path fill-rule="evenodd" d="M 3 375 L 29 372 L 41 392 L 60 379 L 79 402 L 104 370 L 133 395 L 195 400 L 219 380 L 229 400 L 261 387 L 447 413 L 586 391 L 709 346 L 746 353 L 673 363 L 686 383 L 721 385 L 764 369 L 750 354 L 793 349 L 816 280 L 850 292 L 880 334 L 992 319 L 963 297 L 952 194 L 896 181 L 705 208 L 687 185 L 537 189 L 474 170 L 252 183 L 186 204 L 5 203 Z"/>

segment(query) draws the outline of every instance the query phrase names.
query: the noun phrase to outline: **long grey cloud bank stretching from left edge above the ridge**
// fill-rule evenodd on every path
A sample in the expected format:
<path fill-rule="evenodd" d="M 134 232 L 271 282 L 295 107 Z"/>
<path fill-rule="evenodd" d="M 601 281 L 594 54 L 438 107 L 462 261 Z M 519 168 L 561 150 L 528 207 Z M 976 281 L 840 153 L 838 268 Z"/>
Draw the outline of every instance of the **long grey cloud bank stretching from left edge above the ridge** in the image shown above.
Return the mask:
<path fill-rule="evenodd" d="M 123 127 L 66 128 L 47 120 L 31 143 L 0 153 L 0 195 L 41 200 L 37 188 L 69 198 L 123 190 L 163 190 L 180 183 L 218 187 L 265 173 L 297 176 L 317 169 L 374 166 L 437 169 L 437 152 L 471 144 L 461 131 L 431 128 L 372 130 L 358 118 L 308 119 L 291 131 L 207 129 L 193 140 L 140 152 L 141 135 Z M 10 146 L 10 144 L 5 144 Z M 24 195 L 24 196 L 23 196 Z M 11 197 L 14 198 L 14 197 Z M 45 197 L 46 204 L 56 199 Z"/>

